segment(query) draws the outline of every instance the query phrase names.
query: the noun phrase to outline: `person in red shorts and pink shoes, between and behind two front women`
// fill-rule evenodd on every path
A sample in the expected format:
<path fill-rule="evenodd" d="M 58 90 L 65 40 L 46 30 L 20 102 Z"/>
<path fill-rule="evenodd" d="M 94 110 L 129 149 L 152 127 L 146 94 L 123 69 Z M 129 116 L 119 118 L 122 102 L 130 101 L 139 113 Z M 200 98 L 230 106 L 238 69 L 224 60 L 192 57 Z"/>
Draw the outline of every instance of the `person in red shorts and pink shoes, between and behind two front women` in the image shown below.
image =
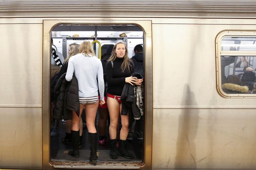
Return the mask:
<path fill-rule="evenodd" d="M 101 63 L 102 63 L 102 67 L 103 67 L 103 74 L 104 74 L 104 76 L 103 76 L 104 77 L 104 84 L 106 84 L 106 82 L 107 82 L 105 67 L 106 67 L 106 64 L 107 64 L 107 60 L 111 56 L 111 52 L 113 51 L 113 48 L 114 48 L 114 45 L 110 44 L 107 48 L 107 51 L 106 51 L 106 54 L 105 54 L 104 58 L 101 58 Z M 107 101 L 106 89 L 104 91 L 104 98 L 105 98 L 105 101 Z M 99 126 L 99 145 L 104 145 L 106 140 L 107 140 L 107 137 L 105 136 L 105 130 L 106 130 L 108 115 L 109 115 L 109 113 L 108 113 L 107 103 L 105 103 L 102 106 L 99 106 L 99 122 L 98 122 L 98 126 Z"/>

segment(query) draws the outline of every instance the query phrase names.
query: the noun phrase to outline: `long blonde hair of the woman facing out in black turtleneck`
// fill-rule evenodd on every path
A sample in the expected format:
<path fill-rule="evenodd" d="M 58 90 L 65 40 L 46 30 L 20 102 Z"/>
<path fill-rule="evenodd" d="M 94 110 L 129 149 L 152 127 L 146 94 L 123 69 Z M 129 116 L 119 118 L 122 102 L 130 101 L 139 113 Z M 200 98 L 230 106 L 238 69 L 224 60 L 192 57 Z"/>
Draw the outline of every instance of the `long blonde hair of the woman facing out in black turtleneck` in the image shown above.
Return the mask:
<path fill-rule="evenodd" d="M 128 49 L 126 47 L 126 44 L 124 42 L 122 42 L 122 41 L 120 41 L 120 42 L 118 42 L 118 43 L 116 43 L 114 45 L 114 48 L 113 48 L 113 50 L 111 52 L 111 56 L 109 57 L 108 61 L 114 61 L 117 58 L 115 50 L 116 50 L 116 47 L 117 47 L 118 44 L 124 44 L 124 46 L 125 46 L 125 55 L 123 56 L 123 63 L 121 65 L 122 72 L 124 72 L 126 68 L 128 68 L 129 72 L 131 72 L 130 69 L 131 69 L 131 65 L 132 65 L 133 62 L 128 57 Z"/>

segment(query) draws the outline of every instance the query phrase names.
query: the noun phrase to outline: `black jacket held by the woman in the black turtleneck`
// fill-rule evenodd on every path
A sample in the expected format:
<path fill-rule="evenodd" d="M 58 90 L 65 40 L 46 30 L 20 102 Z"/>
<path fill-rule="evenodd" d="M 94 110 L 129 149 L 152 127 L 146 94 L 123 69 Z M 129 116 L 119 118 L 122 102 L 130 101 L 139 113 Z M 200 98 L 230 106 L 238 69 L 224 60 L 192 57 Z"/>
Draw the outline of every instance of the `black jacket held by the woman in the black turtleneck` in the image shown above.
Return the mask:
<path fill-rule="evenodd" d="M 142 75 L 138 72 L 134 72 L 131 74 L 133 77 L 137 77 L 138 79 L 143 78 Z M 130 83 L 125 83 L 122 91 L 121 101 L 122 101 L 122 110 L 121 115 L 127 115 L 129 113 L 133 113 L 133 117 L 135 120 L 140 119 L 140 109 L 136 105 L 136 96 L 134 94 L 135 85 L 131 85 Z M 131 114 L 130 114 L 131 115 Z"/>

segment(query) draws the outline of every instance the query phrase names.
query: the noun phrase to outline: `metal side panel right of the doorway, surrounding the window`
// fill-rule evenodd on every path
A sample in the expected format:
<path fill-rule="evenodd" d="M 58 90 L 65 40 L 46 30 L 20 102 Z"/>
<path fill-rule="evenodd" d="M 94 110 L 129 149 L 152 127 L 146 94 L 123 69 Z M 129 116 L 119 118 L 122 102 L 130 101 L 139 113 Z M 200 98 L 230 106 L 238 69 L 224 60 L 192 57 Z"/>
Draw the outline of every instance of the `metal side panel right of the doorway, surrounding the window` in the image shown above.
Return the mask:
<path fill-rule="evenodd" d="M 254 99 L 218 94 L 214 44 L 223 30 L 254 25 L 239 19 L 154 21 L 152 167 L 253 169 Z"/>

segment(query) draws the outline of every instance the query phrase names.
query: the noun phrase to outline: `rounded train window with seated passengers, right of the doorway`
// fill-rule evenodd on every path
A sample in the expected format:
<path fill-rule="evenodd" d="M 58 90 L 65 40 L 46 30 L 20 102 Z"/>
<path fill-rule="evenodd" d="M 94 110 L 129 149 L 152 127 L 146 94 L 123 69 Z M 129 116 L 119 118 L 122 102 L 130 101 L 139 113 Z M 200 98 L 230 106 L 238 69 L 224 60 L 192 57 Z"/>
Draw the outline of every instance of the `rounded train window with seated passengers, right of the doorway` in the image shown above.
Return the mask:
<path fill-rule="evenodd" d="M 219 38 L 219 91 L 224 97 L 256 95 L 256 37 L 238 35 Z"/>

